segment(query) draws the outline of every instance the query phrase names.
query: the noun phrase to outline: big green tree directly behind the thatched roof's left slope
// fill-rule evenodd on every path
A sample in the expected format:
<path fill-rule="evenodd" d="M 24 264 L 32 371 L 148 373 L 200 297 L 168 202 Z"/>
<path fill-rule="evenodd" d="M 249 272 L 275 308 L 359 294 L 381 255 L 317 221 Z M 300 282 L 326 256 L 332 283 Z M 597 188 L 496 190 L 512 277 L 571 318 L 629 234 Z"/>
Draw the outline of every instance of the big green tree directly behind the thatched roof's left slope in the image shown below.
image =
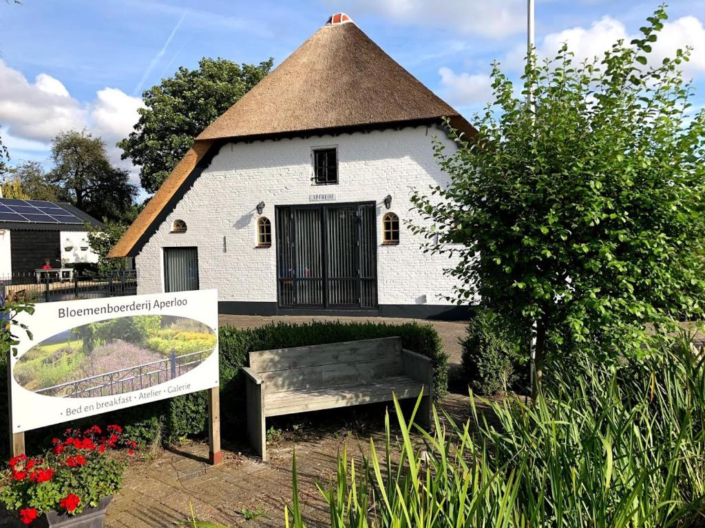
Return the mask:
<path fill-rule="evenodd" d="M 273 64 L 272 58 L 255 66 L 204 57 L 197 69 L 181 67 L 146 90 L 135 131 L 118 143 L 123 159 L 140 165 L 142 187 L 157 191 L 195 137 L 262 80 Z"/>

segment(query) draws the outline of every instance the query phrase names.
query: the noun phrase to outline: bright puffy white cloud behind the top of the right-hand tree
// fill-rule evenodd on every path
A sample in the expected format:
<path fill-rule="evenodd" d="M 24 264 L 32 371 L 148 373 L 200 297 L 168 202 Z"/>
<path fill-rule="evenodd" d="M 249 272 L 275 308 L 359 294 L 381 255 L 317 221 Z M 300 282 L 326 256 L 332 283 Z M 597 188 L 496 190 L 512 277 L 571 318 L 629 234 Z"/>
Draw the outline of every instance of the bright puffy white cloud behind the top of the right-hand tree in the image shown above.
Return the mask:
<path fill-rule="evenodd" d="M 537 54 L 541 58 L 553 58 L 560 46 L 567 43 L 568 49 L 575 54 L 578 61 L 601 58 L 618 40 L 629 44 L 632 39 L 639 37 L 642 37 L 641 33 L 630 34 L 620 20 L 604 16 L 587 28 L 577 26 L 547 34 L 537 45 Z M 658 40 L 652 46 L 651 60 L 661 63 L 663 58 L 675 56 L 676 49 L 685 49 L 686 46 L 691 46 L 693 52 L 690 61 L 682 65 L 683 71 L 687 75 L 697 75 L 705 71 L 705 28 L 694 16 L 685 16 L 663 24 L 663 30 L 658 33 Z M 508 68 L 520 70 L 525 56 L 526 47 L 517 46 L 503 63 Z"/>

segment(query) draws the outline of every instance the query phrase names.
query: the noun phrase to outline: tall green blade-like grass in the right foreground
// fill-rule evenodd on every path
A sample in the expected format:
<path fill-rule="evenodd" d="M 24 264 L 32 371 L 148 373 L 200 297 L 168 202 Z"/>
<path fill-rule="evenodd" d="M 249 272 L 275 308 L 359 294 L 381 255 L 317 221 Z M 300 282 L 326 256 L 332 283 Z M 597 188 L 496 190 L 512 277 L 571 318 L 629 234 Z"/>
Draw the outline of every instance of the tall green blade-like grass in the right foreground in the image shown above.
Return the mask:
<path fill-rule="evenodd" d="M 553 365 L 534 403 L 485 403 L 480 415 L 471 394 L 464 424 L 434 413 L 415 441 L 395 402 L 400 441 L 387 416 L 382 451 L 343 451 L 319 484 L 331 527 L 705 525 L 705 358 L 685 341 L 617 366 Z M 302 528 L 297 493 L 285 521 Z"/>

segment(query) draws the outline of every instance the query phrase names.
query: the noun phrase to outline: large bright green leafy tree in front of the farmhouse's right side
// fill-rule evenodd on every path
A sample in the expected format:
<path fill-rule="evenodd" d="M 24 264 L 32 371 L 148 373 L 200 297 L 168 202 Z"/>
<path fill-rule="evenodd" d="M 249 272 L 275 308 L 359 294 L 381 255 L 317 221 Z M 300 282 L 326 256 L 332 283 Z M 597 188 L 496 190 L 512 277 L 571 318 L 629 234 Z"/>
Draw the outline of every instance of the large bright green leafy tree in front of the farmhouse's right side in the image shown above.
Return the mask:
<path fill-rule="evenodd" d="M 450 183 L 413 194 L 429 222 L 412 230 L 459 257 L 455 300 L 536 323 L 539 379 L 546 353 L 641 353 L 649 325 L 703 316 L 705 112 L 688 113 L 689 50 L 650 56 L 665 19 L 601 61 L 529 61 L 523 96 L 494 65 L 477 137 L 435 145 Z"/>

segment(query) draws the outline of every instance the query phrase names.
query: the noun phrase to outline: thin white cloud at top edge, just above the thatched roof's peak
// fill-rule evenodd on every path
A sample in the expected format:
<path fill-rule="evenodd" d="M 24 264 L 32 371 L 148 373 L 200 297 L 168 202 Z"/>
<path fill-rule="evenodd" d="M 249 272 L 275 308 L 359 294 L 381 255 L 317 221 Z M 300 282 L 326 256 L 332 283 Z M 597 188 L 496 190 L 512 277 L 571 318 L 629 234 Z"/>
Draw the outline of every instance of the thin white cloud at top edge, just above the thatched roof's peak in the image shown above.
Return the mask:
<path fill-rule="evenodd" d="M 327 0 L 331 8 L 346 11 L 353 20 L 356 14 L 384 15 L 400 24 L 426 25 L 450 29 L 460 34 L 504 37 L 525 27 L 524 0 Z"/>

